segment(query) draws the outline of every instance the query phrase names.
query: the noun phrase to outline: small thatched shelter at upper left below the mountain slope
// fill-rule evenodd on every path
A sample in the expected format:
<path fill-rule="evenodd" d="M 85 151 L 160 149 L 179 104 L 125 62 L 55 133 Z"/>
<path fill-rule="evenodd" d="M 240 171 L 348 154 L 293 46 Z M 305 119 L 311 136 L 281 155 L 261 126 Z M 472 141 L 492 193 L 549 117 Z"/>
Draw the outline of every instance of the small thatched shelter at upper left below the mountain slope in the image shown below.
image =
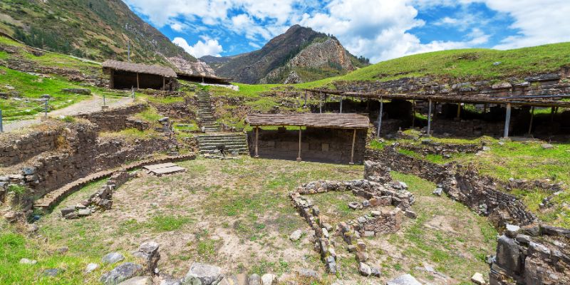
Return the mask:
<path fill-rule="evenodd" d="M 113 60 L 103 62 L 103 73 L 110 76 L 111 89 L 172 90 L 177 77 L 171 68 Z"/>

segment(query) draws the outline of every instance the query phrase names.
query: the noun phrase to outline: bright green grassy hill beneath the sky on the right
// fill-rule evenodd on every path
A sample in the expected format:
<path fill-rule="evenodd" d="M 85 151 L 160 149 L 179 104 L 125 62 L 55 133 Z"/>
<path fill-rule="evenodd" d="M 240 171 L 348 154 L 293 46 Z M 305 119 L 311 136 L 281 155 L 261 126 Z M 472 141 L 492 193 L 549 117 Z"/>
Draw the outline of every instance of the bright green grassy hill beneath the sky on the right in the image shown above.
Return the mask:
<path fill-rule="evenodd" d="M 325 86 L 333 81 L 390 81 L 422 76 L 460 81 L 502 80 L 558 71 L 564 66 L 570 66 L 570 43 L 507 51 L 469 48 L 404 56 L 360 68 L 344 76 L 297 86 L 306 88 Z"/>

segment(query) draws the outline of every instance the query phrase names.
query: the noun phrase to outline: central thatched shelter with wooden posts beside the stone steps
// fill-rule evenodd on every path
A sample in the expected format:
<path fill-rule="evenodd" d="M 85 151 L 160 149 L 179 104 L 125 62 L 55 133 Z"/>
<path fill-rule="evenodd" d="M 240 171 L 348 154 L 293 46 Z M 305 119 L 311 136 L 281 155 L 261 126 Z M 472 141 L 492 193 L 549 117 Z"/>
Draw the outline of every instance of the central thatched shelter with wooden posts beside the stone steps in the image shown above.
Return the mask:
<path fill-rule="evenodd" d="M 254 157 L 351 164 L 363 162 L 370 126 L 367 115 L 354 113 L 249 114 L 246 123 L 254 127 Z"/>

